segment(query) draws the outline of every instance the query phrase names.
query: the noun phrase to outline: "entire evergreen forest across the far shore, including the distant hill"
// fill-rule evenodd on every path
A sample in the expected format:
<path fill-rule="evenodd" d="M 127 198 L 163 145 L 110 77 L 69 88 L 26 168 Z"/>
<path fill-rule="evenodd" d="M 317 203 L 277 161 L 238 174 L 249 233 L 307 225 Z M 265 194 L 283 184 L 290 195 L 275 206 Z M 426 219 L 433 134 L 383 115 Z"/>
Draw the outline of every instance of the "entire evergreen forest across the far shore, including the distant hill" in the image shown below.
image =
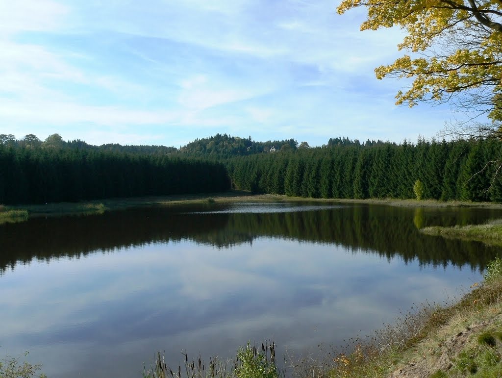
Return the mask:
<path fill-rule="evenodd" d="M 423 198 L 502 201 L 502 172 L 494 158 L 502 142 L 496 139 L 397 145 L 338 137 L 310 148 L 293 139 L 255 142 L 217 134 L 177 150 L 98 147 L 64 142 L 59 134 L 44 142 L 33 134 L 18 141 L 2 134 L 0 148 L 0 203 L 6 204 L 226 190 L 217 162 L 228 170 L 233 188 L 255 193 L 414 198 L 420 180 Z M 193 158 L 199 160 L 186 160 Z"/>

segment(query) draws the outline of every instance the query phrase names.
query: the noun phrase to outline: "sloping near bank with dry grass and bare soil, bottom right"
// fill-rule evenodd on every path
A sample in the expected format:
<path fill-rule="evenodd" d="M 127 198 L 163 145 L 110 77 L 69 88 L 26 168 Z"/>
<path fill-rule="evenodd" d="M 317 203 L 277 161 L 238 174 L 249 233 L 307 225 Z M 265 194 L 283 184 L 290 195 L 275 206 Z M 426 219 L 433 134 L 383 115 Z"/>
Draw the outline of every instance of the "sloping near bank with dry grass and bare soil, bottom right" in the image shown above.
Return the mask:
<path fill-rule="evenodd" d="M 502 376 L 502 260 L 491 268 L 460 300 L 416 306 L 372 337 L 350 340 L 329 366 L 302 367 L 311 373 L 300 376 Z"/>

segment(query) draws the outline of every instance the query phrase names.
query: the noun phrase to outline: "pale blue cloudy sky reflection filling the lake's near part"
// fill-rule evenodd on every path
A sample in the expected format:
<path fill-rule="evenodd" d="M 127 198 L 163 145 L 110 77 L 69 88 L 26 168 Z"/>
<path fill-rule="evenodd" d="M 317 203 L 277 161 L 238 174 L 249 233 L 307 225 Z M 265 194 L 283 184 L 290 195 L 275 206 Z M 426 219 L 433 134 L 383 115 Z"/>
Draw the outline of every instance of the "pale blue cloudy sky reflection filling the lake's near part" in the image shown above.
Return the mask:
<path fill-rule="evenodd" d="M 340 344 L 392 321 L 413 302 L 441 300 L 438 288 L 454 291 L 465 277 L 457 269 L 404 266 L 399 258 L 282 238 L 226 250 L 149 245 L 4 276 L 9 291 L 0 335 L 11 350 L 47 355 L 50 376 L 92 375 L 97 366 L 104 376 L 110 361 L 141 370 L 157 349 L 176 365 L 185 348 L 209 358 L 231 357 L 248 340 L 272 337 L 290 350 Z M 67 345 L 72 349 L 62 350 Z M 50 353 L 78 358 L 62 374 Z"/>

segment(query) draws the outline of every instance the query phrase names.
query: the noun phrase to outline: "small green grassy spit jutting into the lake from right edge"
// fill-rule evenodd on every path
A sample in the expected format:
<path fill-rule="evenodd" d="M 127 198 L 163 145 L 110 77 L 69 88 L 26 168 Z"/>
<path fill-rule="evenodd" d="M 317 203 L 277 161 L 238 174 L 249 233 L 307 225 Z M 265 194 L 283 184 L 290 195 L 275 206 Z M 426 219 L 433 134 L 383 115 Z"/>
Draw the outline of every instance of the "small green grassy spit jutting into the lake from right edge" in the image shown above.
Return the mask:
<path fill-rule="evenodd" d="M 425 227 L 420 230 L 428 235 L 477 240 L 491 245 L 502 246 L 502 219 L 491 220 L 485 224 L 469 224 L 453 227 Z"/>

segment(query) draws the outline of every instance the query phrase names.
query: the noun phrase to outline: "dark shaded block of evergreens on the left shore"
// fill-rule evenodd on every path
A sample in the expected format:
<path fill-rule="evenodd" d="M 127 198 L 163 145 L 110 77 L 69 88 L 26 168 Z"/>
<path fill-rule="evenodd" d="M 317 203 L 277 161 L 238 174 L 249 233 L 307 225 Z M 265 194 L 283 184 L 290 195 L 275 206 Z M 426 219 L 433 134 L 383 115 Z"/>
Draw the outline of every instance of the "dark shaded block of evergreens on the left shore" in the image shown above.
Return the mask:
<path fill-rule="evenodd" d="M 46 203 L 228 190 L 225 167 L 200 159 L 0 145 L 0 203 Z"/>

